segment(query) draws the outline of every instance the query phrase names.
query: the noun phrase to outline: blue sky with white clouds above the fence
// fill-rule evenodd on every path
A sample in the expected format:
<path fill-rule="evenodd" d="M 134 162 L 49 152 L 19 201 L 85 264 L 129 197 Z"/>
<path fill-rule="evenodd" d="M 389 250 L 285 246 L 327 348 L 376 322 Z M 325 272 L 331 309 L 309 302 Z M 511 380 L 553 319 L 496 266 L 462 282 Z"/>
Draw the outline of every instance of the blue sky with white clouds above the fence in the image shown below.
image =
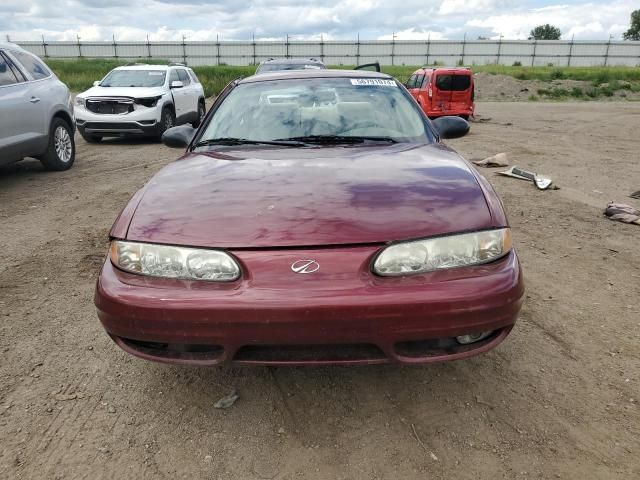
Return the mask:
<path fill-rule="evenodd" d="M 621 39 L 639 0 L 0 0 L 0 39 Z"/>

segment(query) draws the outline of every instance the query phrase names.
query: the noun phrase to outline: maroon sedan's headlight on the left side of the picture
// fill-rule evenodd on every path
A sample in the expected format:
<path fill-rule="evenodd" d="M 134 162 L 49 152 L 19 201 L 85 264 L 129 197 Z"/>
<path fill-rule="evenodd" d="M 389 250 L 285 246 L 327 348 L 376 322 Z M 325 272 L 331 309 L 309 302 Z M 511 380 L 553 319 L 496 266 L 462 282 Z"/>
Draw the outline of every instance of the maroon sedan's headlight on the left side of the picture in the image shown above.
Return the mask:
<path fill-rule="evenodd" d="M 111 242 L 111 261 L 124 271 L 152 277 L 217 282 L 240 277 L 236 261 L 220 250 L 114 240 Z"/>

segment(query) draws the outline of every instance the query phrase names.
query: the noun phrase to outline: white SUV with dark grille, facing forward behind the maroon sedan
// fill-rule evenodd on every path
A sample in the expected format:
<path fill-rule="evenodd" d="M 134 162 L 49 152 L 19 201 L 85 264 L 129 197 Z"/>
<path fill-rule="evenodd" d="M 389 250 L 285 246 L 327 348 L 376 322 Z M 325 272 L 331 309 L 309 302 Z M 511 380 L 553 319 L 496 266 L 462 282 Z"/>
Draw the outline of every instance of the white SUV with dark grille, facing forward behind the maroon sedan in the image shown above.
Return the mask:
<path fill-rule="evenodd" d="M 182 64 L 114 68 L 75 99 L 76 125 L 87 142 L 124 135 L 160 138 L 175 125 L 197 127 L 205 113 L 202 85 Z"/>

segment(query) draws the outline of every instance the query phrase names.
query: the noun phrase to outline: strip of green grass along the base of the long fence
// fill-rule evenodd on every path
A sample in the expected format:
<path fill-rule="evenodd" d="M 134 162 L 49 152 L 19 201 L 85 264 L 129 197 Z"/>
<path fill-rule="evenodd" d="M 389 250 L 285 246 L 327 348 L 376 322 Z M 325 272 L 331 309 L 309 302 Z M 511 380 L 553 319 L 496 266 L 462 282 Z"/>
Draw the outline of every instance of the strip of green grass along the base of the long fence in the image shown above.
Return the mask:
<path fill-rule="evenodd" d="M 143 63 L 166 63 L 166 60 L 141 59 Z M 89 88 L 94 80 L 101 79 L 109 70 L 126 62 L 117 60 L 55 60 L 48 59 L 47 64 L 56 72 L 58 77 L 65 82 L 74 92 L 81 92 Z M 335 65 L 332 68 L 348 69 L 348 65 Z M 382 71 L 393 75 L 401 82 L 405 82 L 417 69 L 407 65 L 384 65 Z M 541 89 L 545 93 L 539 95 L 551 98 L 596 98 L 597 96 L 612 96 L 616 90 L 626 89 L 632 92 L 640 91 L 640 67 L 522 67 L 518 65 L 476 65 L 471 67 L 474 72 L 485 72 L 494 75 L 509 75 L 520 80 L 540 80 L 552 82 L 553 80 L 582 80 L 591 82 L 592 90 L 579 88 Z M 217 95 L 231 80 L 238 77 L 252 75 L 255 66 L 203 66 L 193 67 L 202 82 L 206 95 Z M 622 83 L 621 83 L 622 82 Z M 580 93 L 579 90 L 582 92 Z M 592 97 L 591 94 L 595 95 Z"/>

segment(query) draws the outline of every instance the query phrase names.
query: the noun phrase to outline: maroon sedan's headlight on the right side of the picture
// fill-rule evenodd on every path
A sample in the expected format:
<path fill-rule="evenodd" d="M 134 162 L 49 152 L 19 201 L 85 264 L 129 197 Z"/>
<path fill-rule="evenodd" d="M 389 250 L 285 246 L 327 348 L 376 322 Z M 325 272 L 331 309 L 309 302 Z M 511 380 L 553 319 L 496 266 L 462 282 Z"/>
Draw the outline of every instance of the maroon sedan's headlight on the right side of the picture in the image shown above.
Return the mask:
<path fill-rule="evenodd" d="M 506 255 L 511 246 L 509 228 L 398 243 L 378 255 L 373 271 L 393 277 L 478 265 Z"/>

